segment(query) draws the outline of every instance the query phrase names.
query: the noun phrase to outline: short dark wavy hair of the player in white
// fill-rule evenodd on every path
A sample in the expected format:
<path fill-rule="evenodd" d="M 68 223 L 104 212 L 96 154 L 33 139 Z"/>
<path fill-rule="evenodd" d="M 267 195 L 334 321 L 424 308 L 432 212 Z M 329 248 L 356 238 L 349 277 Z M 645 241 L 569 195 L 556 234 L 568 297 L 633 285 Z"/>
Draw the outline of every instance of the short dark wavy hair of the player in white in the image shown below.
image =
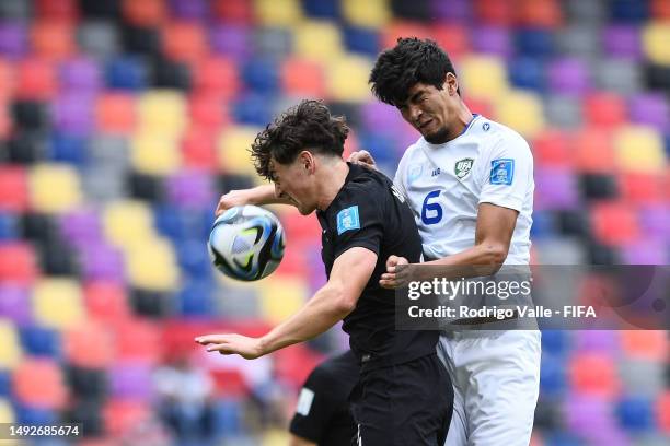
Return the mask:
<path fill-rule="evenodd" d="M 369 82 L 380 101 L 398 106 L 407 101 L 407 92 L 418 82 L 442 90 L 447 73 L 455 75 L 455 70 L 437 43 L 401 37 L 397 45 L 379 55 Z"/>

